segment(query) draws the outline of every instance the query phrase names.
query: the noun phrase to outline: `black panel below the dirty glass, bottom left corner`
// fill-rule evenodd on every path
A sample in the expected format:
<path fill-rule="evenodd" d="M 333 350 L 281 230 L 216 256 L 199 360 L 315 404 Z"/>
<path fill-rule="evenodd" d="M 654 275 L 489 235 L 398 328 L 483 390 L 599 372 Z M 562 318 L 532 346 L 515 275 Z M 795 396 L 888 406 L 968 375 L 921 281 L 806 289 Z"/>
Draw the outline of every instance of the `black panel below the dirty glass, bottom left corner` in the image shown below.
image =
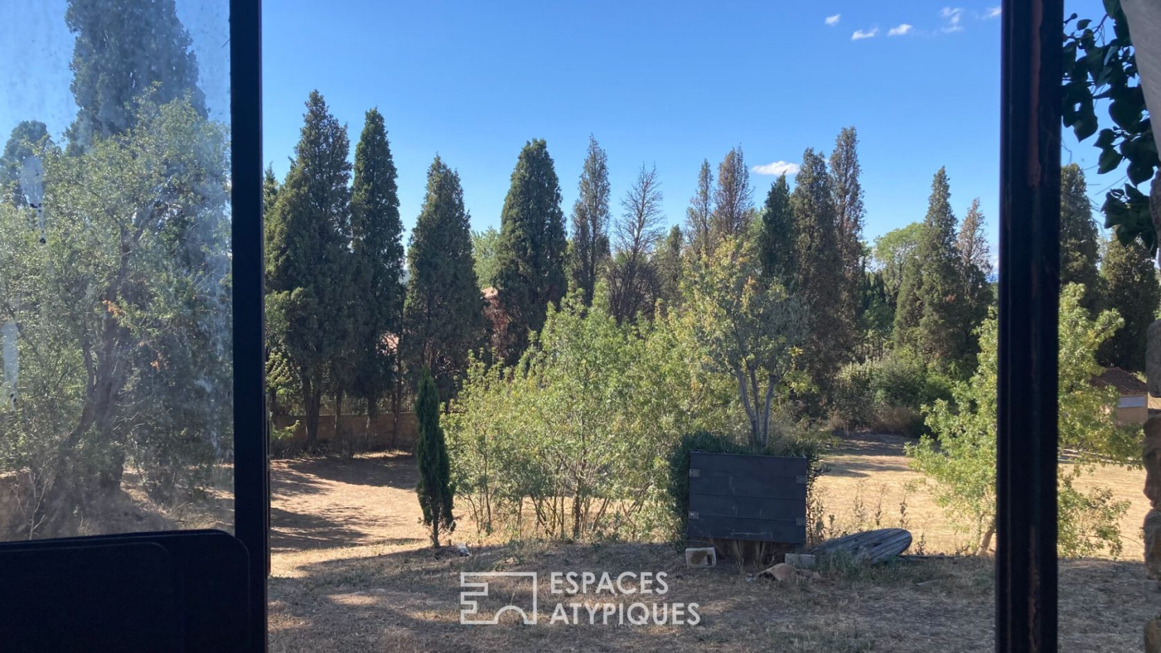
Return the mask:
<path fill-rule="evenodd" d="M 137 572 L 137 550 L 151 547 L 166 557 L 166 572 Z M 166 637 L 176 637 L 176 648 L 156 639 L 139 651 L 241 652 L 253 641 L 248 608 L 248 554 L 236 538 L 222 531 L 173 531 L 67 538 L 0 545 L 0 651 L 8 641 L 35 645 L 27 651 L 127 651 L 104 644 L 80 646 L 89 638 L 111 633 L 152 632 L 154 624 L 166 625 Z M 60 559 L 67 561 L 62 565 Z M 145 559 L 147 562 L 149 559 Z M 136 579 L 144 577 L 149 591 L 129 591 Z M 45 582 L 45 579 L 55 579 Z M 9 584 L 10 583 L 10 584 Z M 33 583 L 33 584 L 30 584 Z M 140 583 L 138 583 L 140 584 Z M 38 601 L 23 601 L 26 588 L 35 587 Z M 109 593 L 102 588 L 117 588 Z M 87 603 L 74 605 L 74 596 Z M 159 602 L 152 591 L 166 593 Z M 6 604 L 12 602 L 12 605 Z M 57 610 L 57 605 L 62 605 Z M 160 620 L 156 611 L 168 605 L 180 617 L 176 625 Z M 111 610 L 115 618 L 104 615 Z M 13 616 L 12 620 L 6 620 Z M 68 629 L 60 629 L 67 624 Z M 94 630 L 95 629 L 95 630 Z M 46 641 L 43 630 L 64 630 L 72 639 Z M 144 636 L 143 636 L 144 637 Z M 103 639 L 96 641 L 104 643 Z M 128 640 L 130 645 L 134 638 Z M 51 646 L 50 646 L 51 644 Z M 164 644 L 164 646 L 163 646 Z M 55 646 L 55 647 L 53 647 Z"/>

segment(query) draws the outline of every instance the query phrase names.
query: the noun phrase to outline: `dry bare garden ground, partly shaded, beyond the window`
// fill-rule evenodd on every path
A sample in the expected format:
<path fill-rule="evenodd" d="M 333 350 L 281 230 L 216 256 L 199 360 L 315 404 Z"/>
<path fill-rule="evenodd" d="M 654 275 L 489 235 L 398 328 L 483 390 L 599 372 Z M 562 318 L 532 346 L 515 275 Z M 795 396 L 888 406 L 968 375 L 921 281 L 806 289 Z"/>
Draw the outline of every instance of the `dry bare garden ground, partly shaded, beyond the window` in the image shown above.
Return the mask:
<path fill-rule="evenodd" d="M 850 508 L 858 494 L 866 497 L 864 505 L 881 503 L 880 521 L 895 525 L 893 493 L 902 493 L 915 474 L 902 458 L 902 442 L 866 437 L 836 450 L 820 483 L 828 511 L 854 521 Z M 986 559 L 830 569 L 813 582 L 778 584 L 748 580 L 729 564 L 690 572 L 679 552 L 664 544 L 493 544 L 474 546 L 473 555 L 462 558 L 426 546 L 410 457 L 275 461 L 272 480 L 273 652 L 971 653 L 993 646 L 991 562 Z M 1126 476 L 1124 483 L 1124 491 L 1140 497 L 1139 482 L 1134 489 Z M 880 485 L 887 488 L 882 493 L 874 489 Z M 907 504 L 910 528 L 930 532 L 928 541 L 954 539 L 950 529 L 939 529 L 938 508 L 922 489 L 913 488 Z M 873 516 L 871 509 L 864 512 Z M 469 524 L 460 529 L 456 540 L 474 539 L 475 533 L 463 532 Z M 647 602 L 698 603 L 701 623 L 630 626 L 614 618 L 604 625 L 597 613 L 598 624 L 590 625 L 583 610 L 582 625 L 545 623 L 555 603 L 621 597 L 565 597 L 542 583 L 540 623 L 505 618 L 499 625 L 461 625 L 460 572 L 471 571 L 666 572 L 669 591 Z M 1061 651 L 1141 651 L 1142 625 L 1161 605 L 1159 586 L 1146 580 L 1144 565 L 1070 560 L 1061 562 L 1060 574 Z M 521 597 L 520 591 L 502 586 L 493 594 Z"/>

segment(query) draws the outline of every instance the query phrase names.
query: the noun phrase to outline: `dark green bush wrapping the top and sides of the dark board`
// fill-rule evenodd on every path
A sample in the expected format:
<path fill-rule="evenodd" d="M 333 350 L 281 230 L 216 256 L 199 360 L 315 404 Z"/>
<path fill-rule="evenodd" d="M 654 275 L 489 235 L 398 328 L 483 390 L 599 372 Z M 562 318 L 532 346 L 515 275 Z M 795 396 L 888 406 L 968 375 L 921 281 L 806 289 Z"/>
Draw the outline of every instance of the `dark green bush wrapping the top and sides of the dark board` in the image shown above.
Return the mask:
<path fill-rule="evenodd" d="M 778 433 L 765 446 L 753 443 L 741 444 L 736 439 L 708 431 L 695 431 L 682 436 L 669 452 L 669 482 L 665 486 L 670 510 L 673 514 L 673 538 L 685 539 L 690 518 L 690 452 L 742 453 L 750 455 L 793 455 L 807 459 L 807 494 L 814 486 L 821 468 L 822 450 L 816 442 L 798 438 L 793 432 Z"/>

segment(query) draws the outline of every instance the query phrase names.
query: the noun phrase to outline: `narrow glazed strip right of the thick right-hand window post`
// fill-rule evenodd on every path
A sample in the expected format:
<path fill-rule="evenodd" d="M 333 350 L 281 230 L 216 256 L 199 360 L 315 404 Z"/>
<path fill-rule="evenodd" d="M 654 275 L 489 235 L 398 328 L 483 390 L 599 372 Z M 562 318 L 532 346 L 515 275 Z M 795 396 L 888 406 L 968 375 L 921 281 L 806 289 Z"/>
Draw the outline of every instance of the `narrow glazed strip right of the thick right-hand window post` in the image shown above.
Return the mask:
<path fill-rule="evenodd" d="M 1065 117 L 1060 174 L 1060 644 L 1141 651 L 1145 631 L 1145 650 L 1155 651 L 1161 367 L 1147 365 L 1146 351 L 1161 352 L 1161 331 L 1151 329 L 1161 310 L 1152 251 L 1161 206 L 1155 186 L 1149 200 L 1158 158 L 1137 144 L 1155 149 L 1145 96 L 1161 79 L 1142 79 L 1139 50 L 1120 35 L 1155 31 L 1148 26 L 1161 16 L 1155 3 L 1080 0 L 1065 15 L 1075 15 L 1063 29 L 1066 102 L 1082 112 Z M 1098 70 L 1073 74 L 1096 52 Z"/>

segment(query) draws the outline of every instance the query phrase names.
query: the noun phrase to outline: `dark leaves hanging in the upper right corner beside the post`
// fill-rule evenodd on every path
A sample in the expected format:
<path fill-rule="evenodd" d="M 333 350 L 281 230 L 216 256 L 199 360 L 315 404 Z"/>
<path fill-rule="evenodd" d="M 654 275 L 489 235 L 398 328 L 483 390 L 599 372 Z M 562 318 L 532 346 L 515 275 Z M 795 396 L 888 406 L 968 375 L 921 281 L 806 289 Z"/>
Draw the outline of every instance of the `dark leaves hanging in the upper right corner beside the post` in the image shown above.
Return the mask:
<path fill-rule="evenodd" d="M 1128 20 L 1120 0 L 1105 0 L 1105 16 L 1095 26 L 1077 20 L 1063 35 L 1065 127 L 1073 128 L 1077 141 L 1097 134 L 1097 103 L 1108 102 L 1111 127 L 1099 130 L 1094 145 L 1101 150 L 1097 172 L 1112 172 L 1125 165 L 1128 184 L 1105 195 L 1102 213 L 1105 227 L 1117 232 L 1122 244 L 1140 238 L 1153 256 L 1158 249 L 1149 199 L 1138 187 L 1153 178 L 1158 167 L 1158 145 L 1153 137 L 1145 93 L 1137 67 L 1137 52 L 1128 34 Z M 1076 14 L 1065 21 L 1065 28 Z M 1112 34 L 1109 34 L 1111 23 Z"/>

